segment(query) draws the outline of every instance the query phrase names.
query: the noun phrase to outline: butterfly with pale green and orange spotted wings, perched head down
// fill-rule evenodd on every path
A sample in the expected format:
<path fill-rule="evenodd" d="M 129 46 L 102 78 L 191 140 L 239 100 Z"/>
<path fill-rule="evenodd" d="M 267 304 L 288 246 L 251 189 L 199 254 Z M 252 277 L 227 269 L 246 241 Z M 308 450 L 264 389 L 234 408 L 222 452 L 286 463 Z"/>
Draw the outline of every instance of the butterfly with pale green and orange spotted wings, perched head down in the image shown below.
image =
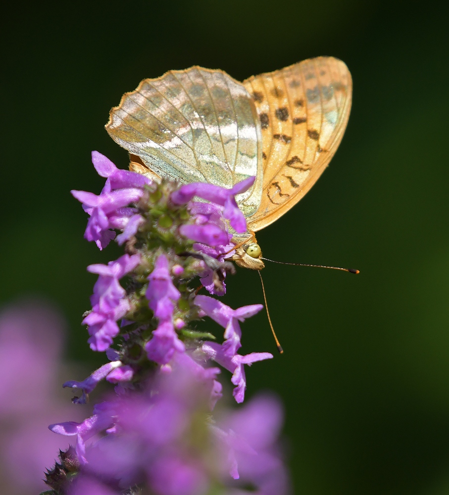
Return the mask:
<path fill-rule="evenodd" d="M 254 232 L 277 220 L 328 166 L 348 123 L 352 82 L 334 57 L 316 57 L 243 83 L 191 67 L 144 79 L 110 111 L 106 130 L 130 153 L 130 169 L 159 181 L 231 188 L 248 233 L 236 235 L 237 264 L 260 270 Z"/>

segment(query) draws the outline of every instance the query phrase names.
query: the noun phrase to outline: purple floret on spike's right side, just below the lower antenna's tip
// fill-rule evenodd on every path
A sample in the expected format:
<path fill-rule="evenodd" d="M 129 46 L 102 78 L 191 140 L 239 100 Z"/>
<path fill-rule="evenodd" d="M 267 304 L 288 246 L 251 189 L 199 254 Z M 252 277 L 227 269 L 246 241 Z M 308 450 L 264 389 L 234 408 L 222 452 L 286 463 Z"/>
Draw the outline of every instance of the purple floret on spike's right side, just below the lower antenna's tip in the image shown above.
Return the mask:
<path fill-rule="evenodd" d="M 245 377 L 244 364 L 249 366 L 256 361 L 263 361 L 264 359 L 272 359 L 273 354 L 269 352 L 251 352 L 246 356 L 241 356 L 240 354 L 235 354 L 229 357 L 223 346 L 215 342 L 208 342 L 202 345 L 202 350 L 207 354 L 208 357 L 221 364 L 223 368 L 226 368 L 233 375 L 231 382 L 236 385 L 234 389 L 233 396 L 238 403 L 243 402 L 245 398 L 245 389 L 247 388 L 247 382 Z"/>

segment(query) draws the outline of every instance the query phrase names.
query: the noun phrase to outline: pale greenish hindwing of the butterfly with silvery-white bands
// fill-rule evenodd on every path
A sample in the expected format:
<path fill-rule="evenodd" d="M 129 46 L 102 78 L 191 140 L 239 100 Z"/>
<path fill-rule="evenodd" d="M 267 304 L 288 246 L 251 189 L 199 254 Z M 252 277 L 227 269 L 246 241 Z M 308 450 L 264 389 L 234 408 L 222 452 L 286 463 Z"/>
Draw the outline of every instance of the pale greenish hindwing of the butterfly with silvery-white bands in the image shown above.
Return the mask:
<path fill-rule="evenodd" d="M 247 90 L 226 73 L 192 67 L 145 79 L 112 108 L 106 130 L 140 158 L 142 171 L 161 177 L 231 188 L 255 175 L 237 199 L 247 217 L 257 210 L 260 125 Z"/>

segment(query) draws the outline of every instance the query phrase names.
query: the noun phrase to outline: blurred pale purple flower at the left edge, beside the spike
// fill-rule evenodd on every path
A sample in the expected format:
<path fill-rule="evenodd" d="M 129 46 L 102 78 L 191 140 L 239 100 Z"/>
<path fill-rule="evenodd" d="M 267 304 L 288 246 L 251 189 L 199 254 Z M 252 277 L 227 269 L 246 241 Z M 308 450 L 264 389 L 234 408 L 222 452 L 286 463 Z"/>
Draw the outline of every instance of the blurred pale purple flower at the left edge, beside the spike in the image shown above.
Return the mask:
<path fill-rule="evenodd" d="M 8 495 L 40 493 L 46 466 L 68 442 L 47 425 L 73 414 L 60 390 L 65 322 L 45 301 L 30 300 L 0 312 L 0 487 Z M 61 395 L 61 396 L 60 396 Z M 26 466 L 26 468 L 24 468 Z"/>

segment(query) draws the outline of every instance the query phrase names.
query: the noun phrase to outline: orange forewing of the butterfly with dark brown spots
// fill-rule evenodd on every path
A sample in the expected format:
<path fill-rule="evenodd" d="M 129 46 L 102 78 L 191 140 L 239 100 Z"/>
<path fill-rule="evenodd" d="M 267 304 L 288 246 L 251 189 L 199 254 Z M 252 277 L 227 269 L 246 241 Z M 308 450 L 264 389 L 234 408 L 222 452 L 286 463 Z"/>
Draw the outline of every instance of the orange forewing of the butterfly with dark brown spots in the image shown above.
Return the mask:
<path fill-rule="evenodd" d="M 344 62 L 317 57 L 243 84 L 262 128 L 262 200 L 248 218 L 257 231 L 294 206 L 329 164 L 348 123 L 352 82 Z"/>

